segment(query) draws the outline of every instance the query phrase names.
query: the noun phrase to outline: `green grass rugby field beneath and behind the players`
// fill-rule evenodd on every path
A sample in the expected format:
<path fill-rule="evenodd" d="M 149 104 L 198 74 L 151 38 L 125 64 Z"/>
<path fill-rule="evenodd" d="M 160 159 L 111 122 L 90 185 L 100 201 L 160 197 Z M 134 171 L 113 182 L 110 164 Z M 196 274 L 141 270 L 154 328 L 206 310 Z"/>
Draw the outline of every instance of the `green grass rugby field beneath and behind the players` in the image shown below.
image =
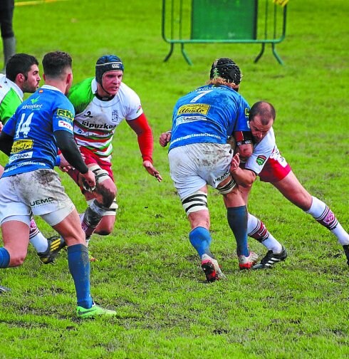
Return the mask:
<path fill-rule="evenodd" d="M 24 2 L 14 16 L 19 52 L 40 61 L 48 51 L 71 53 L 74 82 L 93 76 L 105 53 L 123 59 L 124 81 L 140 95 L 152 125 L 164 180 L 147 175 L 135 135 L 120 125 L 113 157 L 118 222 L 113 234 L 90 242 L 99 259 L 91 265 L 93 298 L 118 316 L 75 319 L 66 254 L 44 266 L 29 247 L 23 266 L 0 272 L 1 285 L 11 288 L 0 296 L 0 358 L 348 358 L 349 272 L 335 236 L 258 181 L 249 211 L 289 256 L 270 271 L 240 272 L 222 198 L 212 190 L 212 251 L 228 280 L 205 283 L 167 150 L 157 140 L 170 128 L 177 98 L 205 83 L 215 58 L 231 57 L 244 74 L 246 100 L 274 104 L 276 140 L 293 172 L 348 230 L 348 1 L 289 1 L 286 39 L 276 46 L 284 66 L 269 46 L 255 64 L 256 44 L 188 44 L 194 66 L 179 48 L 164 63 L 169 45 L 158 0 Z M 78 188 L 61 177 L 83 212 Z M 249 243 L 264 256 L 261 244 Z"/>

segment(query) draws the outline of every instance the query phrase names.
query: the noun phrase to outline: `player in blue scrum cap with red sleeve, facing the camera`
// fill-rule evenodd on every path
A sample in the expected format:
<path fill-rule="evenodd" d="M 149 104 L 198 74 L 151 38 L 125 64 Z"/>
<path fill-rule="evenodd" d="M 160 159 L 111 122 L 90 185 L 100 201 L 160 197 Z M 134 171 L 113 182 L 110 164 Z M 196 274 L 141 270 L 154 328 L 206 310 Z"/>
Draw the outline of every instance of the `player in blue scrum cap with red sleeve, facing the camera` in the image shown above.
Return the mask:
<path fill-rule="evenodd" d="M 76 170 L 68 170 L 88 202 L 81 218 L 87 243 L 94 231 L 107 235 L 114 228 L 118 204 L 111 164 L 112 142 L 115 130 L 123 120 L 137 135 L 143 167 L 162 181 L 152 165 L 152 130 L 137 93 L 123 83 L 123 74 L 124 65 L 118 56 L 102 56 L 95 64 L 95 77 L 74 85 L 68 93 L 75 109 L 75 141 L 96 178 L 95 189 L 90 189 L 83 184 Z"/>

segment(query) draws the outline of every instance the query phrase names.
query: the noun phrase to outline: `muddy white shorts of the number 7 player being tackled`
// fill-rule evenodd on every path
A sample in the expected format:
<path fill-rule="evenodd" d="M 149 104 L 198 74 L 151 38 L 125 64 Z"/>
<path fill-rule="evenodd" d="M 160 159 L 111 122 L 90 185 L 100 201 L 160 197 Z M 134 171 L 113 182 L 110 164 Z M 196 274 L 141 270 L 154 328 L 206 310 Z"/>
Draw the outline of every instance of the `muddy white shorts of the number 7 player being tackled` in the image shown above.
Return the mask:
<path fill-rule="evenodd" d="M 205 184 L 217 188 L 229 177 L 233 157 L 229 144 L 194 143 L 170 150 L 170 175 L 180 199 Z"/>

